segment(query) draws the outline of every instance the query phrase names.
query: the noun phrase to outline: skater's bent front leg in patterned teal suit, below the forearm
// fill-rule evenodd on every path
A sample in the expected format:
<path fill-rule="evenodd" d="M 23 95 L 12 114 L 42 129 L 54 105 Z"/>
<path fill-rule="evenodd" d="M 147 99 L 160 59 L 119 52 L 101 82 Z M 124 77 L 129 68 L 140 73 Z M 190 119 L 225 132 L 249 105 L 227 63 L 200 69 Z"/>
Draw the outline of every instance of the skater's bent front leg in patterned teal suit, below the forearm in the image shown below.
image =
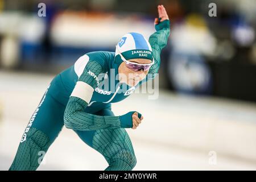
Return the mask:
<path fill-rule="evenodd" d="M 114 115 L 112 110 L 103 109 L 96 115 Z M 90 147 L 100 152 L 109 163 L 107 171 L 131 170 L 137 163 L 133 145 L 126 130 L 101 129 L 96 131 L 76 131 Z"/>

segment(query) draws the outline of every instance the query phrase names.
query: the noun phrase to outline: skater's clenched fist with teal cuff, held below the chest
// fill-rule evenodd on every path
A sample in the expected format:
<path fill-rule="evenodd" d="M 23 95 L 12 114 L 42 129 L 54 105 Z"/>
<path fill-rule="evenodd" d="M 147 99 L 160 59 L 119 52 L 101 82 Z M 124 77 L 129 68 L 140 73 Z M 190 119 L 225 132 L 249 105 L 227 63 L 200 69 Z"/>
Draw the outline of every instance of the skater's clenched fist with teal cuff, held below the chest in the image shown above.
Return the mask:
<path fill-rule="evenodd" d="M 143 116 L 137 111 L 130 111 L 129 113 L 120 116 L 121 127 L 137 129 L 141 124 Z"/>

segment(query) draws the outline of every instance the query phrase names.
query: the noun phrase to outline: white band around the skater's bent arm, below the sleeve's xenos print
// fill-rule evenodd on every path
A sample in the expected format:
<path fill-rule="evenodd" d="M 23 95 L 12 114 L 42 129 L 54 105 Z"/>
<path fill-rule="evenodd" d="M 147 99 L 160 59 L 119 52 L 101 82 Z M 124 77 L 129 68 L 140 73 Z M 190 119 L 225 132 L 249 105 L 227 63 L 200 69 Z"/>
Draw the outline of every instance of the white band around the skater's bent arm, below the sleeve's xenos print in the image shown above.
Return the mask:
<path fill-rule="evenodd" d="M 79 97 L 89 104 L 93 92 L 94 89 L 92 88 L 92 86 L 86 84 L 85 82 L 77 81 L 76 86 L 73 89 L 73 92 L 71 93 L 71 96 Z"/>

